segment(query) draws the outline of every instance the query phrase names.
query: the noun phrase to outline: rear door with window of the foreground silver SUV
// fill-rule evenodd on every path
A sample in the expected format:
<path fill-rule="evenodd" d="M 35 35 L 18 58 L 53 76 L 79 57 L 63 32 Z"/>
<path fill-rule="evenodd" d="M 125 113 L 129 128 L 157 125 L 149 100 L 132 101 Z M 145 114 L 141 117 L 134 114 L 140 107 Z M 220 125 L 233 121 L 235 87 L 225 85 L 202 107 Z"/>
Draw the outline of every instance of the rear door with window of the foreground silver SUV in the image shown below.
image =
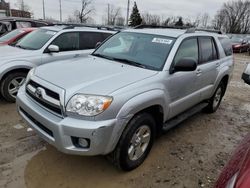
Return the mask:
<path fill-rule="evenodd" d="M 201 99 L 209 99 L 219 74 L 220 60 L 218 47 L 213 37 L 199 37 L 200 60 L 197 68 L 198 87 Z"/>

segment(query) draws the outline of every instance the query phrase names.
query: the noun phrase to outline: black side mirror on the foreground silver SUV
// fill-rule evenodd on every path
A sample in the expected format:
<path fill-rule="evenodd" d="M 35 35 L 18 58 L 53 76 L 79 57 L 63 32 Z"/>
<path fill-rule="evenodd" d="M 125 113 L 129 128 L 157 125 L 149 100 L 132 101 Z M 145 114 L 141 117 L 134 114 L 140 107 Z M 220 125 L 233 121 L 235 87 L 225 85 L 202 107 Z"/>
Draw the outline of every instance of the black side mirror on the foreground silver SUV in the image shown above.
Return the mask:
<path fill-rule="evenodd" d="M 191 72 L 197 68 L 197 61 L 193 58 L 182 58 L 173 67 L 172 73 L 174 72 Z"/>

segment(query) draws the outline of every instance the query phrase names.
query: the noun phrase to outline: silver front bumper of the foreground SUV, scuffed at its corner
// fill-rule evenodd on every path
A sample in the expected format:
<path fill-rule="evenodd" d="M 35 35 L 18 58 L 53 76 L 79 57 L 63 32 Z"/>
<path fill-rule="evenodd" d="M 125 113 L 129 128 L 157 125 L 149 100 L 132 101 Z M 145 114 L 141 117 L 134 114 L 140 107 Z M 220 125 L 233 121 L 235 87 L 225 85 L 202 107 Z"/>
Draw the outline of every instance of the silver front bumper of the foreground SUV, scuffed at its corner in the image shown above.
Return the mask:
<path fill-rule="evenodd" d="M 19 114 L 45 141 L 59 151 L 74 155 L 105 155 L 110 153 L 119 140 L 117 126 L 123 127 L 124 121 L 86 121 L 70 117 L 60 118 L 40 107 L 20 89 L 17 96 Z M 89 148 L 80 148 L 73 138 L 90 141 Z"/>

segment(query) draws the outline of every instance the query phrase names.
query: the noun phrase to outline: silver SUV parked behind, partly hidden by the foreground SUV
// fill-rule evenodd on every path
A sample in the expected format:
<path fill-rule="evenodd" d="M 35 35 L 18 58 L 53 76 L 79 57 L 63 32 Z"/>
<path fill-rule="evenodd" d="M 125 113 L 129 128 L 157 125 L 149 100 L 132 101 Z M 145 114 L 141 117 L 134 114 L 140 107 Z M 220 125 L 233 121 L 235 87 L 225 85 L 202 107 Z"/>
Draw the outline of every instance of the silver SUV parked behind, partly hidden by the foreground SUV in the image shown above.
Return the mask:
<path fill-rule="evenodd" d="M 45 63 L 73 59 L 93 52 L 114 31 L 101 28 L 53 26 L 38 29 L 15 46 L 0 47 L 0 91 L 14 102 L 28 71 Z"/>

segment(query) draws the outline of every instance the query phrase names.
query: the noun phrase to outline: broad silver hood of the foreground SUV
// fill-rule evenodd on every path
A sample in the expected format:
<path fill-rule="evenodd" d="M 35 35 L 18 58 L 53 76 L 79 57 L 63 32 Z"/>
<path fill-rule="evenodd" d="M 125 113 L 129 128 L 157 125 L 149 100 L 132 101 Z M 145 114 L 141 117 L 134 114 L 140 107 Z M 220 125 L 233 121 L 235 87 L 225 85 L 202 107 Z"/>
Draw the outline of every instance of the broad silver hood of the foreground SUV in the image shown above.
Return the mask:
<path fill-rule="evenodd" d="M 71 97 L 76 93 L 110 95 L 157 73 L 88 56 L 40 66 L 36 69 L 35 76 L 65 89 L 66 96 Z"/>

